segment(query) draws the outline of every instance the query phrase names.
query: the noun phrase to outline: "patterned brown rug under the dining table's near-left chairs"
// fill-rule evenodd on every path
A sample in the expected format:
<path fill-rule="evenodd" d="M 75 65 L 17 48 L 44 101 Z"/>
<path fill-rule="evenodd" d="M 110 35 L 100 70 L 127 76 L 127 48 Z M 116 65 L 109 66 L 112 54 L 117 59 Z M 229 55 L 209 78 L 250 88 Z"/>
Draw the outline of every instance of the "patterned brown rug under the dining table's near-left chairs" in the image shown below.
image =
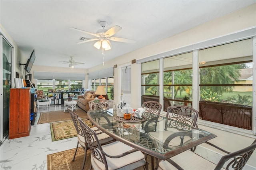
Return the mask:
<path fill-rule="evenodd" d="M 72 162 L 75 151 L 76 148 L 47 155 L 47 170 L 80 170 L 84 160 L 84 149 L 82 147 L 78 148 L 76 158 Z M 148 169 L 151 169 L 151 156 L 148 156 L 148 162 Z M 84 170 L 90 169 L 90 165 L 91 152 L 87 150 Z M 143 167 L 136 168 L 136 170 L 143 170 Z"/>

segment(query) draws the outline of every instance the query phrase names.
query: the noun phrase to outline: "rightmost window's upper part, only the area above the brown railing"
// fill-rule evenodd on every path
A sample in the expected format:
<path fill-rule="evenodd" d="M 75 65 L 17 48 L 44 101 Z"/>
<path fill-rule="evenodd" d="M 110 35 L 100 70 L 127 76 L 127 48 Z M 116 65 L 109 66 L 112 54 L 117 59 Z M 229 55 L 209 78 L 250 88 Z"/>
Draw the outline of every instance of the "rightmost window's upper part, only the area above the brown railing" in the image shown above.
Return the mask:
<path fill-rule="evenodd" d="M 199 50 L 200 101 L 252 106 L 252 38 Z"/>

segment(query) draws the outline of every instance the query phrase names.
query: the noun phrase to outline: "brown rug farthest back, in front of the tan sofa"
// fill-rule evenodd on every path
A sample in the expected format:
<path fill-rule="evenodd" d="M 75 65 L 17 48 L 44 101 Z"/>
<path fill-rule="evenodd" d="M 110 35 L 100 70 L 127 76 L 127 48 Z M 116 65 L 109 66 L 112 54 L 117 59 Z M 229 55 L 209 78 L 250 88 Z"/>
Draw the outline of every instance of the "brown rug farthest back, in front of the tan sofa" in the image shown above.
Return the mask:
<path fill-rule="evenodd" d="M 79 117 L 85 119 L 87 118 L 87 113 L 82 109 L 74 110 Z M 70 121 L 71 116 L 68 111 L 49 111 L 49 112 L 41 112 L 40 117 L 37 124 L 42 123 L 51 123 L 51 122 L 60 122 L 60 121 Z"/>

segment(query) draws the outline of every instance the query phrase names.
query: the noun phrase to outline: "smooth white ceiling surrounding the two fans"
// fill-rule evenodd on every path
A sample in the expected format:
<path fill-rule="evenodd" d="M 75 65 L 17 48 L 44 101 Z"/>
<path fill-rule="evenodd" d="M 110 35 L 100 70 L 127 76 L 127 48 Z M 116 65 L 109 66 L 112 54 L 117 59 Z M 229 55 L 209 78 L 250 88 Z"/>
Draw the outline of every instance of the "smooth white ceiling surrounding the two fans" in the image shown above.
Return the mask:
<path fill-rule="evenodd" d="M 105 62 L 158 42 L 220 16 L 256 3 L 255 0 L 0 0 L 0 24 L 29 58 L 35 49 L 34 65 L 68 67 L 60 61 L 70 56 L 76 68 L 88 69 L 102 63 L 102 51 L 88 42 L 76 44 L 78 28 L 96 33 L 99 22 L 122 27 L 114 37 L 136 43 L 113 42 Z M 26 59 L 24 59 L 26 61 Z"/>

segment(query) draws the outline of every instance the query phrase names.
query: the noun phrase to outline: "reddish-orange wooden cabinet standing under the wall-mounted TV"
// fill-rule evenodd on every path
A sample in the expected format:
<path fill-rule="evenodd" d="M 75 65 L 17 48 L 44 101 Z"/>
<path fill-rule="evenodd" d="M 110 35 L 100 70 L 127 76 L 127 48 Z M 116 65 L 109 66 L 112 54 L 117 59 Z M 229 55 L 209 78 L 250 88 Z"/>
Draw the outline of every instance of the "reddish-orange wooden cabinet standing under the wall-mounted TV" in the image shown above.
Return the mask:
<path fill-rule="evenodd" d="M 9 138 L 29 136 L 31 110 L 30 88 L 10 89 Z"/>

